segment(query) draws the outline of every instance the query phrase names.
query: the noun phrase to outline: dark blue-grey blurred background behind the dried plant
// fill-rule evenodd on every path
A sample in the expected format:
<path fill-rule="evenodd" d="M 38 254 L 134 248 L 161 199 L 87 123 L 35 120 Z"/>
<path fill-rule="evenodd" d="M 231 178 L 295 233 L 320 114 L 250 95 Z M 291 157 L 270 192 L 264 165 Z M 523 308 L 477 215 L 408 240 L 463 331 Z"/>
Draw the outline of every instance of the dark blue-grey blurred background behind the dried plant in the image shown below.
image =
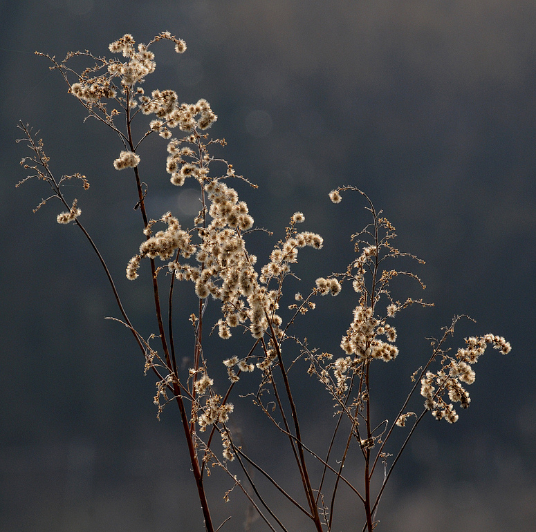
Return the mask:
<path fill-rule="evenodd" d="M 275 231 L 252 237 L 259 262 L 296 210 L 304 229 L 324 236 L 322 251 L 301 252 L 303 285 L 289 294 L 352 258 L 349 235 L 369 218 L 358 195 L 329 202 L 342 184 L 366 191 L 398 230 L 400 250 L 426 260 L 415 267 L 424 294 L 400 283 L 394 295 L 436 306 L 394 319 L 400 356 L 373 374 L 378 422 L 396 414 L 429 354 L 426 338 L 441 336 L 454 314 L 477 320 L 461 323 L 454 347 L 488 332 L 512 343 L 507 357 L 488 350 L 479 361 L 471 406 L 454 426 L 423 421 L 382 500 L 381 529 L 533 529 L 534 1 L 20 0 L 0 3 L 0 24 L 0 530 L 203 529 L 178 413 L 169 406 L 156 420 L 153 377 L 142 376 L 131 335 L 104 320 L 118 312 L 97 260 L 75 227 L 57 225 L 59 204 L 32 213 L 48 196 L 44 183 L 15 189 L 26 175 L 19 160 L 30 155 L 15 144 L 22 120 L 40 131 L 57 175 L 89 178 L 89 191 L 66 191 L 79 199 L 133 321 L 156 332 L 144 281 L 124 279 L 143 237 L 131 182 L 112 167 L 121 146 L 95 121 L 84 124 L 59 74 L 33 52 L 109 55 L 107 45 L 125 32 L 147 42 L 162 30 L 188 50 L 154 46 L 146 90 L 173 88 L 184 102 L 205 97 L 219 115 L 210 133 L 228 141 L 221 155 L 259 184 L 237 183 L 241 198 L 257 225 Z M 169 184 L 165 144 L 151 139 L 140 152 L 151 216 L 172 209 L 187 224 L 192 191 Z M 190 312 L 188 288 L 177 315 Z M 350 293 L 322 299 L 303 322 L 311 345 L 342 354 L 354 304 Z M 177 327 L 187 365 L 189 330 Z M 211 345 L 215 359 L 234 349 Z M 329 427 L 317 420 L 331 419 L 330 401 L 310 382 L 299 396 L 306 437 L 320 445 Z M 244 445 L 264 446 L 261 459 L 285 474 L 288 463 L 263 439 L 248 399 L 234 403 Z M 243 525 L 248 506 L 237 491 L 230 506 L 220 503 L 216 493 L 230 484 L 215 476 L 216 518 L 234 511 L 230 529 L 264 530 Z M 342 530 L 358 516 L 350 497 L 346 504 Z"/>

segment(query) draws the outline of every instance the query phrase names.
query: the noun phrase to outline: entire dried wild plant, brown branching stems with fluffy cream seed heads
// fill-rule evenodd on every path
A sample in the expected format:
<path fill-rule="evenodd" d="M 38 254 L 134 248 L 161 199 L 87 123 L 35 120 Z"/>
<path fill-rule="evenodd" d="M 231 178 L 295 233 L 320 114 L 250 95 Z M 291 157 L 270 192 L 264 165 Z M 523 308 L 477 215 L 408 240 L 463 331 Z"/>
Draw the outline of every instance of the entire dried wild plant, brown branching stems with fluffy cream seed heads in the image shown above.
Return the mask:
<path fill-rule="evenodd" d="M 113 54 L 122 55 L 120 58 L 107 59 L 85 51 L 69 53 L 58 62 L 55 57 L 39 54 L 48 58 L 52 62 L 50 68 L 64 77 L 68 92 L 84 106 L 87 115 L 108 126 L 120 140 L 122 149 L 113 161 L 113 167 L 133 173 L 133 186 L 138 196 L 136 211 L 141 215 L 144 235 L 140 234 L 141 243 L 133 243 L 133 256 L 126 265 L 126 273 L 134 282 L 140 275 L 150 276 L 152 280 L 151 298 L 158 324 L 154 334 L 144 338 L 131 323 L 111 272 L 80 221 L 79 201 L 64 195 L 66 180 L 80 180 L 84 189 L 89 188 L 88 180 L 80 174 L 65 175 L 57 180 L 43 142 L 22 123 L 19 124 L 24 132 L 22 140 L 28 143 L 32 155 L 21 162 L 30 171 L 21 182 L 35 177 L 44 180 L 52 193 L 37 209 L 53 198 L 59 200 L 66 211 L 59 213 L 57 222 L 75 224 L 98 255 L 118 304 L 118 320 L 133 334 L 145 360 L 145 372 L 153 372 L 156 376 L 154 402 L 158 417 L 168 403 L 174 402 L 178 406 L 207 531 L 225 529 L 228 523 L 225 520 L 218 526 L 210 512 L 206 484 L 214 466 L 230 476 L 231 487 L 224 494 L 225 500 L 229 499 L 233 488 L 239 488 L 250 509 L 264 520 L 266 529 L 288 531 L 290 526 L 278 515 L 272 493 L 269 496 L 264 493 L 268 484 L 272 491 L 308 518 L 310 529 L 318 532 L 334 529 L 335 509 L 338 509 L 335 500 L 340 487 L 346 486 L 362 504 L 362 529 L 372 531 L 378 524 L 378 503 L 391 472 L 426 412 L 438 420 L 454 423 L 458 419 L 454 404 L 459 403 L 461 408 L 468 408 L 470 404 L 465 386 L 474 381 L 474 363 L 486 346 L 492 345 L 507 354 L 510 344 L 501 336 L 486 334 L 466 339 L 465 348 L 452 353 L 447 348 L 447 339 L 454 334 L 454 326 L 462 317 L 456 316 L 443 331 L 441 339 L 432 342 L 432 351 L 424 365 L 414 373 L 412 389 L 396 417 L 378 424 L 371 414 L 371 397 L 377 397 L 381 390 L 375 389 L 375 393 L 371 393 L 369 377 L 372 368 L 380 371 L 381 368 L 376 370 L 376 365 L 394 361 L 398 356 L 397 334 L 392 324 L 396 314 L 409 305 L 428 305 L 412 298 L 401 302 L 392 296 L 391 281 L 397 276 L 408 276 L 421 287 L 424 285 L 411 272 L 391 269 L 391 263 L 399 258 L 423 261 L 393 246 L 394 227 L 387 218 L 380 216 L 364 192 L 355 187 L 340 187 L 329 194 L 332 202 L 340 202 L 346 193 L 358 192 L 366 200 L 371 216 L 370 224 L 351 237 L 355 258 L 345 272 L 319 277 L 308 295 L 292 294 L 289 300 L 286 292 L 284 294 L 284 286 L 286 278 L 294 276 L 293 267 L 300 249 L 322 248 L 322 237 L 310 231 L 299 231 L 297 227 L 305 217 L 296 212 L 290 217 L 284 238 L 276 243 L 267 262 L 259 267 L 257 257 L 248 251 L 247 245 L 255 222 L 246 202 L 239 200 L 237 190 L 228 183 L 234 179 L 252 187 L 255 185 L 237 175 L 231 164 L 212 155 L 213 146 L 223 146 L 225 141 L 212 140 L 206 133 L 217 119 L 210 104 L 205 99 L 199 99 L 196 104 L 179 104 L 174 91 L 155 89 L 149 95 L 142 88 L 145 77 L 156 68 L 151 48 L 161 40 L 171 41 L 177 53 L 186 49 L 181 39 L 162 32 L 149 44 L 137 47 L 131 35 L 124 35 L 109 46 Z M 70 66 L 75 57 L 88 60 L 90 66 L 78 73 Z M 131 124 L 142 120 L 142 115 L 155 116 L 149 121 L 145 133 L 134 138 Z M 142 144 L 150 135 L 160 135 L 167 140 L 165 168 L 171 184 L 181 187 L 190 180 L 198 187 L 201 201 L 191 227 L 181 227 L 170 212 L 157 213 L 159 218 L 156 219 L 147 213 L 147 187 L 142 182 L 139 164 Z M 145 266 L 147 263 L 148 267 Z M 176 361 L 176 347 L 180 345 L 184 350 L 190 345 L 189 341 L 177 340 L 174 336 L 176 316 L 172 311 L 176 281 L 192 283 L 198 299 L 195 308 L 190 310 L 181 305 L 183 315 L 180 318 L 190 320 L 195 340 L 192 367 L 188 370 L 181 370 Z M 355 292 L 356 304 L 348 330 L 340 341 L 343 356 L 337 357 L 311 348 L 304 336 L 295 335 L 293 327 L 300 316 L 315 310 L 315 298 L 337 296 L 344 285 L 349 285 Z M 161 297 L 163 290 L 165 300 Z M 205 309 L 210 299 L 221 305 L 221 317 L 215 323 L 207 324 Z M 279 312 L 284 307 L 291 311 L 287 321 L 281 317 L 284 312 Z M 207 352 L 207 328 L 217 330 L 222 340 L 230 339 L 234 330 L 246 332 L 250 335 L 250 345 L 243 352 L 237 352 L 233 345 L 225 355 L 221 354 L 226 352 L 225 345 L 217 353 Z M 157 349 L 152 347 L 155 341 L 159 344 Z M 300 365 L 299 359 L 306 360 L 306 364 Z M 213 368 L 218 364 L 225 366 L 227 383 L 214 382 Z M 266 415 L 268 426 L 284 435 L 302 493 L 288 491 L 284 487 L 286 482 L 281 482 L 259 464 L 256 453 L 261 453 L 261 449 L 252 448 L 246 453 L 240 443 L 241 436 L 231 428 L 229 420 L 234 406 L 230 399 L 237 397 L 235 387 L 245 373 L 253 373 L 252 377 L 257 374 L 257 377 L 248 379 L 244 384 L 246 388 L 241 388 L 241 395 L 250 397 Z M 320 381 L 326 397 L 331 398 L 335 406 L 335 417 L 322 420 L 332 431 L 329 446 L 323 450 L 311 448 L 302 435 L 302 417 L 295 401 L 297 385 L 311 377 Z M 253 388 L 252 382 L 255 382 Z M 416 413 L 408 408 L 419 384 L 424 406 Z M 406 437 L 399 448 L 393 449 L 389 444 L 391 435 L 397 430 L 405 430 Z M 216 433 L 223 450 L 219 443 L 214 443 Z M 343 470 L 352 453 L 362 457 L 362 471 Z M 315 462 L 313 474 L 311 464 Z M 252 472 L 268 482 L 257 482 Z M 362 477 L 361 482 L 356 480 L 358 475 Z M 380 484 L 372 484 L 374 475 L 382 477 Z M 373 486 L 379 487 L 373 490 Z M 248 522 L 251 521 L 250 515 Z"/>

